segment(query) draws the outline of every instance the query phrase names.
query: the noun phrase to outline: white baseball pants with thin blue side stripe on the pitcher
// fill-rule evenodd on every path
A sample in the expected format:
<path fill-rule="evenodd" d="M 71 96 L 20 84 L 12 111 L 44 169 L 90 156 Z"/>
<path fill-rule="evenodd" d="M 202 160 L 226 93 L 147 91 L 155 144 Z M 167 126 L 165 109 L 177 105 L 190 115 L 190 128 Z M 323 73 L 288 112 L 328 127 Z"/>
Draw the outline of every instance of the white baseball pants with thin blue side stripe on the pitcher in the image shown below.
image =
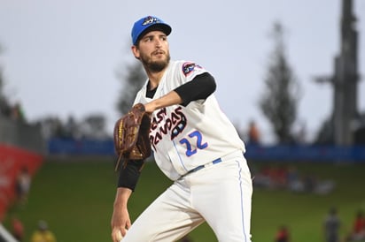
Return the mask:
<path fill-rule="evenodd" d="M 251 242 L 252 178 L 241 152 L 175 181 L 144 210 L 123 242 L 172 242 L 206 221 L 220 242 Z"/>

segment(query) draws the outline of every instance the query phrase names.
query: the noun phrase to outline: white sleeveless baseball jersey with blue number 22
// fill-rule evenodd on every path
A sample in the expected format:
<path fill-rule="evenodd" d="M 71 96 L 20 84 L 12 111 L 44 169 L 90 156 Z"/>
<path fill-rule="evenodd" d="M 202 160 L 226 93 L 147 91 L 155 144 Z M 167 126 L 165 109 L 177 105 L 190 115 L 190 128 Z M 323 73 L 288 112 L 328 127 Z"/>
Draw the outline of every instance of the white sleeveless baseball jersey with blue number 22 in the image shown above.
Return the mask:
<path fill-rule="evenodd" d="M 204 72 L 207 71 L 198 64 L 171 61 L 153 99 L 167 95 Z M 137 93 L 135 104 L 153 100 L 145 96 L 147 82 Z M 186 107 L 173 105 L 155 110 L 150 140 L 156 163 L 172 180 L 234 151 L 245 152 L 244 142 L 221 111 L 214 94 L 206 100 L 190 102 Z"/>

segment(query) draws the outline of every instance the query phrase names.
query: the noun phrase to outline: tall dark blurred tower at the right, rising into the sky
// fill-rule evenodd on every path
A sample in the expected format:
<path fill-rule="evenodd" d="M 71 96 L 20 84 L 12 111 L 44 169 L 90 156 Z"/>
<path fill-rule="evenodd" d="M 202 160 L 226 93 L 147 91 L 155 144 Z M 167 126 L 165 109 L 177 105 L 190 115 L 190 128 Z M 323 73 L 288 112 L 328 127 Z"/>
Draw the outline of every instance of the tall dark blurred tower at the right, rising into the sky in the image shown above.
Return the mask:
<path fill-rule="evenodd" d="M 358 83 L 361 80 L 358 63 L 357 17 L 353 12 L 353 0 L 342 1 L 339 22 L 340 49 L 334 58 L 332 76 L 322 76 L 316 81 L 329 83 L 333 88 L 333 110 L 322 126 L 319 143 L 350 146 L 365 143 L 365 112 L 358 108 Z"/>

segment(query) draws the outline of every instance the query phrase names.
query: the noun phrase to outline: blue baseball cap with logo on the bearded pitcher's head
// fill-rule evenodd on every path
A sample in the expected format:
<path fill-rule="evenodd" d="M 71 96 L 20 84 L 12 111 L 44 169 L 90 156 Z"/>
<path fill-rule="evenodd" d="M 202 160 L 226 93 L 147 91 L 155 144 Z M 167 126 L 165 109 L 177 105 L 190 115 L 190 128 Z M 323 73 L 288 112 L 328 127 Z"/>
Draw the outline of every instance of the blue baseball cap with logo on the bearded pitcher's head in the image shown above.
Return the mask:
<path fill-rule="evenodd" d="M 150 31 L 159 30 L 166 35 L 171 33 L 171 26 L 167 25 L 162 19 L 154 16 L 147 16 L 136 21 L 132 28 L 132 42 L 134 45 L 139 41 L 140 37 Z"/>

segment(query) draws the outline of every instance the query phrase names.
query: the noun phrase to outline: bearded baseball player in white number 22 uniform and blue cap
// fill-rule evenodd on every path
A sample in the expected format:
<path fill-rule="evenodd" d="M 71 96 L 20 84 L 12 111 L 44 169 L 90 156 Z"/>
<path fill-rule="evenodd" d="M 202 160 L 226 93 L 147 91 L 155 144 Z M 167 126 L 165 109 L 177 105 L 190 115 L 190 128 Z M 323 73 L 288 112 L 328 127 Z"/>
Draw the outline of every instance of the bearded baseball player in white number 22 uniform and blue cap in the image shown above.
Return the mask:
<path fill-rule="evenodd" d="M 148 16 L 132 28 L 132 52 L 148 79 L 136 94 L 151 113 L 150 141 L 159 169 L 174 181 L 131 224 L 128 198 L 142 163 L 120 170 L 112 238 L 176 241 L 206 222 L 219 241 L 251 241 L 252 179 L 245 144 L 214 97 L 213 76 L 190 61 L 171 61 L 171 26 Z"/>

